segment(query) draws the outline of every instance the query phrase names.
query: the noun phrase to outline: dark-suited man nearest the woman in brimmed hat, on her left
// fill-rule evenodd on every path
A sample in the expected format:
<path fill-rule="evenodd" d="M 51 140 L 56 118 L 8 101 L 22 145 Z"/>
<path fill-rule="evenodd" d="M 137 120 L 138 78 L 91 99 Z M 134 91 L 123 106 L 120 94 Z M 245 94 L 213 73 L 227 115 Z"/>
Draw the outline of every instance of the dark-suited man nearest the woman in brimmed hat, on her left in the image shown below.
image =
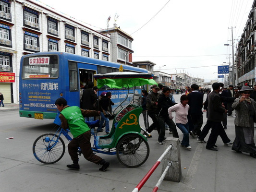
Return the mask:
<path fill-rule="evenodd" d="M 219 83 L 212 84 L 213 91 L 208 96 L 208 117 L 207 120 L 211 125 L 211 134 L 209 136 L 206 149 L 218 151 L 217 148 L 214 148 L 214 145 L 219 136 L 219 132 L 223 129 L 221 121 L 223 120 L 223 113 L 227 113 L 224 105 L 222 105 L 220 96 L 219 96 Z"/>

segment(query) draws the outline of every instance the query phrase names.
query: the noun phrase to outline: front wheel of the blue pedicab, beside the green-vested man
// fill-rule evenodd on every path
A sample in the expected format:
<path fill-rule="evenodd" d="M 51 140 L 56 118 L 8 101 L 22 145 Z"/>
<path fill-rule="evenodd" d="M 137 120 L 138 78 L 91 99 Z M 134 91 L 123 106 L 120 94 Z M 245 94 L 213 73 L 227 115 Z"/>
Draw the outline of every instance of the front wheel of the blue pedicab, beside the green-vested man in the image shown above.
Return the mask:
<path fill-rule="evenodd" d="M 53 133 L 39 136 L 33 144 L 33 154 L 38 161 L 44 164 L 58 162 L 65 153 L 65 144 L 61 137 Z"/>

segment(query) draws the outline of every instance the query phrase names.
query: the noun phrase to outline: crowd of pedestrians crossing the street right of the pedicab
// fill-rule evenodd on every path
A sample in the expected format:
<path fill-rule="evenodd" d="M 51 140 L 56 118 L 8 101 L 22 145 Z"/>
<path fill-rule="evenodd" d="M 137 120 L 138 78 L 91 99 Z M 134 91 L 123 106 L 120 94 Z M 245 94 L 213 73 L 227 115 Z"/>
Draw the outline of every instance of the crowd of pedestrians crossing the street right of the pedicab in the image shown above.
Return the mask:
<path fill-rule="evenodd" d="M 254 122 L 256 122 L 256 85 L 224 88 L 222 83 L 212 84 L 212 91 L 209 89 L 200 90 L 198 85 L 192 84 L 182 90 L 179 103 L 175 103 L 173 98 L 177 90 L 171 90 L 162 84 L 154 84 L 152 90 L 147 95 L 143 91 L 143 114 L 145 127 L 148 132 L 154 129 L 158 131 L 158 144 L 163 144 L 165 130 L 169 129 L 173 137 L 179 138 L 176 126 L 183 133 L 181 146 L 191 149 L 189 134 L 196 138 L 198 142 L 206 143 L 206 149 L 218 151 L 216 145 L 218 136 L 225 146 L 232 146 L 232 150 L 237 153 L 249 153 L 256 158 L 256 146 L 254 143 Z M 145 93 L 144 93 L 145 92 Z M 207 99 L 204 101 L 204 94 Z M 207 111 L 207 122 L 203 129 L 203 112 Z M 235 113 L 234 113 L 235 110 Z M 175 123 L 172 112 L 175 112 Z M 153 120 L 148 126 L 147 115 Z M 235 127 L 234 142 L 228 137 L 227 117 L 233 117 Z M 175 125 L 176 124 L 176 125 Z M 211 130 L 208 141 L 205 138 Z"/>

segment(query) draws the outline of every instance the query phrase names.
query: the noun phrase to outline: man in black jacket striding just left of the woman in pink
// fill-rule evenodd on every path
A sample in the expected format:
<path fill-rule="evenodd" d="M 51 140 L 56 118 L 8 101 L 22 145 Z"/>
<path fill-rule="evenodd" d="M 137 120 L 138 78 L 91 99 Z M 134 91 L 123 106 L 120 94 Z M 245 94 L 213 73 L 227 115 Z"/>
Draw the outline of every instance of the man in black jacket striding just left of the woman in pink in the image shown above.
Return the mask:
<path fill-rule="evenodd" d="M 163 88 L 163 93 L 160 94 L 158 98 L 158 122 L 159 122 L 159 136 L 158 136 L 158 144 L 163 144 L 164 136 L 165 136 L 165 125 L 166 122 L 169 126 L 170 131 L 172 131 L 173 137 L 179 138 L 176 125 L 173 120 L 170 120 L 168 114 L 168 108 L 175 105 L 175 103 L 171 102 L 170 99 L 170 91 L 169 87 Z"/>

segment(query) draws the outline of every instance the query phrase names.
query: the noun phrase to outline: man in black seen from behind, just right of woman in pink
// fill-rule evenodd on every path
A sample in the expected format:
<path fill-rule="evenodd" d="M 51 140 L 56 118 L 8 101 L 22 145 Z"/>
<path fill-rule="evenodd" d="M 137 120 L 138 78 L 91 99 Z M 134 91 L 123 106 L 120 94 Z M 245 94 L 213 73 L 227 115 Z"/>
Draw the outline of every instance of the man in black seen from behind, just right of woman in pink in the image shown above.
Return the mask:
<path fill-rule="evenodd" d="M 200 135 L 201 127 L 203 125 L 202 107 L 203 107 L 204 94 L 198 92 L 198 88 L 199 87 L 197 84 L 192 84 L 191 85 L 192 93 L 188 94 L 188 105 L 189 105 L 188 116 L 190 116 L 194 125 L 194 130 L 190 132 L 193 137 L 194 135 Z"/>

